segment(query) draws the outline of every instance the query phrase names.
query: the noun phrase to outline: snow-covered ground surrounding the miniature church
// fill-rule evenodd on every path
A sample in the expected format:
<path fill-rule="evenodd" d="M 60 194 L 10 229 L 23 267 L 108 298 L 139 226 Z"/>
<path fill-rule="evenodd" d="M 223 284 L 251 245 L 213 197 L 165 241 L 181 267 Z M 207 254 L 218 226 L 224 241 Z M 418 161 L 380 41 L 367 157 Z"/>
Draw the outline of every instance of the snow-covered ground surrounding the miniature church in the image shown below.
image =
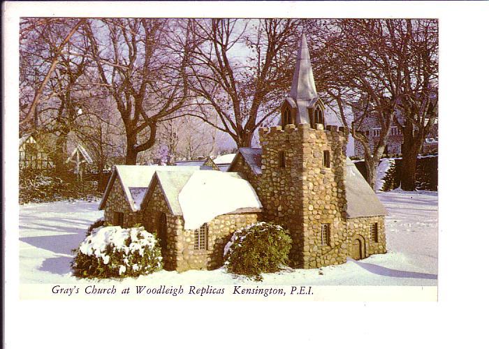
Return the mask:
<path fill-rule="evenodd" d="M 267 274 L 261 285 L 437 285 L 438 194 L 379 193 L 386 206 L 388 253 L 344 265 Z M 88 225 L 103 215 L 98 202 L 51 202 L 20 207 L 20 283 L 78 283 L 70 273 L 71 250 Z M 224 269 L 210 272 L 158 272 L 138 279 L 101 283 L 168 285 L 253 284 Z"/>

